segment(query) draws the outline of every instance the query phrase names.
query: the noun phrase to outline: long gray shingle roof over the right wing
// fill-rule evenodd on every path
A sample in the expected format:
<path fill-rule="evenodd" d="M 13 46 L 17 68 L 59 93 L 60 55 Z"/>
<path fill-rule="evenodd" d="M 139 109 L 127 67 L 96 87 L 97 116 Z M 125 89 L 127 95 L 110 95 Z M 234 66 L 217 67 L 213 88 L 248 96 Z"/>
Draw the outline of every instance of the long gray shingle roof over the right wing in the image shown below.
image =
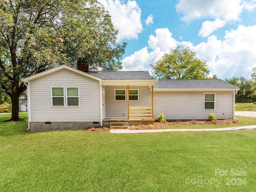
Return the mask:
<path fill-rule="evenodd" d="M 234 86 L 221 79 L 166 79 L 159 80 L 154 88 L 156 89 L 236 89 Z"/>

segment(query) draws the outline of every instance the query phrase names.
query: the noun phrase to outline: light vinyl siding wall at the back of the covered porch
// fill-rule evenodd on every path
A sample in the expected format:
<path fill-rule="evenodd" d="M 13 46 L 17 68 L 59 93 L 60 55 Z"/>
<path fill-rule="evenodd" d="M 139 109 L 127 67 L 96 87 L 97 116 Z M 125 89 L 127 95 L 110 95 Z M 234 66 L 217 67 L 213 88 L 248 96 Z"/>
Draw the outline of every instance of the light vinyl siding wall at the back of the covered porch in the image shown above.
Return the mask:
<path fill-rule="evenodd" d="M 115 89 L 126 89 L 127 95 L 127 86 L 105 86 L 105 116 L 106 118 L 128 118 L 127 97 L 126 101 L 115 101 Z M 129 86 L 129 89 L 139 90 L 139 100 L 130 100 L 130 106 L 152 106 L 152 97 L 148 86 Z"/>

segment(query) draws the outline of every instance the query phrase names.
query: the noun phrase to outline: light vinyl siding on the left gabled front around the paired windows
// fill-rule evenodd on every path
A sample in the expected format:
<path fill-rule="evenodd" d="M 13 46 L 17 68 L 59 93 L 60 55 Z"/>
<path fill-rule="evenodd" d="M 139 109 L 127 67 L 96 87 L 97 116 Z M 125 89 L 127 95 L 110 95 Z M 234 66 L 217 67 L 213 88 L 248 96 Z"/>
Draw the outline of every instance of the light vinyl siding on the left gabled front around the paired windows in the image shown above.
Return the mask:
<path fill-rule="evenodd" d="M 80 106 L 67 107 L 65 97 L 65 107 L 52 107 L 55 86 L 79 87 Z M 100 122 L 99 82 L 62 69 L 30 81 L 30 104 L 31 122 Z"/>

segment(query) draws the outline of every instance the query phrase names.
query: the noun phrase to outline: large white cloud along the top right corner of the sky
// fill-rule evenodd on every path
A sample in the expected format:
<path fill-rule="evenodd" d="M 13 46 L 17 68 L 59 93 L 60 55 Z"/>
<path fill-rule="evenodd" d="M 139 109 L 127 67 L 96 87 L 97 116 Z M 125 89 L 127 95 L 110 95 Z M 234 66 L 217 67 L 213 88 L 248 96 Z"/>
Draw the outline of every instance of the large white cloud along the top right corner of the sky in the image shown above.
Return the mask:
<path fill-rule="evenodd" d="M 213 18 L 202 23 L 199 36 L 208 37 L 212 32 L 222 28 L 229 22 L 240 20 L 243 10 L 256 8 L 256 0 L 179 0 L 176 12 L 182 14 L 180 20 Z"/>

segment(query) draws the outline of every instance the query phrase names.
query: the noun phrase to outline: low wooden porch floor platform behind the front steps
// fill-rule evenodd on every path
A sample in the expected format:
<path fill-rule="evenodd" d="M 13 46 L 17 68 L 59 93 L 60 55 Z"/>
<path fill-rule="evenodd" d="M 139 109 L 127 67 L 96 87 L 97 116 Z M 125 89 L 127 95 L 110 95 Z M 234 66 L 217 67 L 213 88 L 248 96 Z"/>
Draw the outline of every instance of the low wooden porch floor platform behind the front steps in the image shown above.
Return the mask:
<path fill-rule="evenodd" d="M 129 126 L 137 125 L 154 125 L 154 119 L 128 119 L 128 118 L 105 118 L 102 120 L 102 126 L 110 126 L 114 122 L 128 122 Z"/>

